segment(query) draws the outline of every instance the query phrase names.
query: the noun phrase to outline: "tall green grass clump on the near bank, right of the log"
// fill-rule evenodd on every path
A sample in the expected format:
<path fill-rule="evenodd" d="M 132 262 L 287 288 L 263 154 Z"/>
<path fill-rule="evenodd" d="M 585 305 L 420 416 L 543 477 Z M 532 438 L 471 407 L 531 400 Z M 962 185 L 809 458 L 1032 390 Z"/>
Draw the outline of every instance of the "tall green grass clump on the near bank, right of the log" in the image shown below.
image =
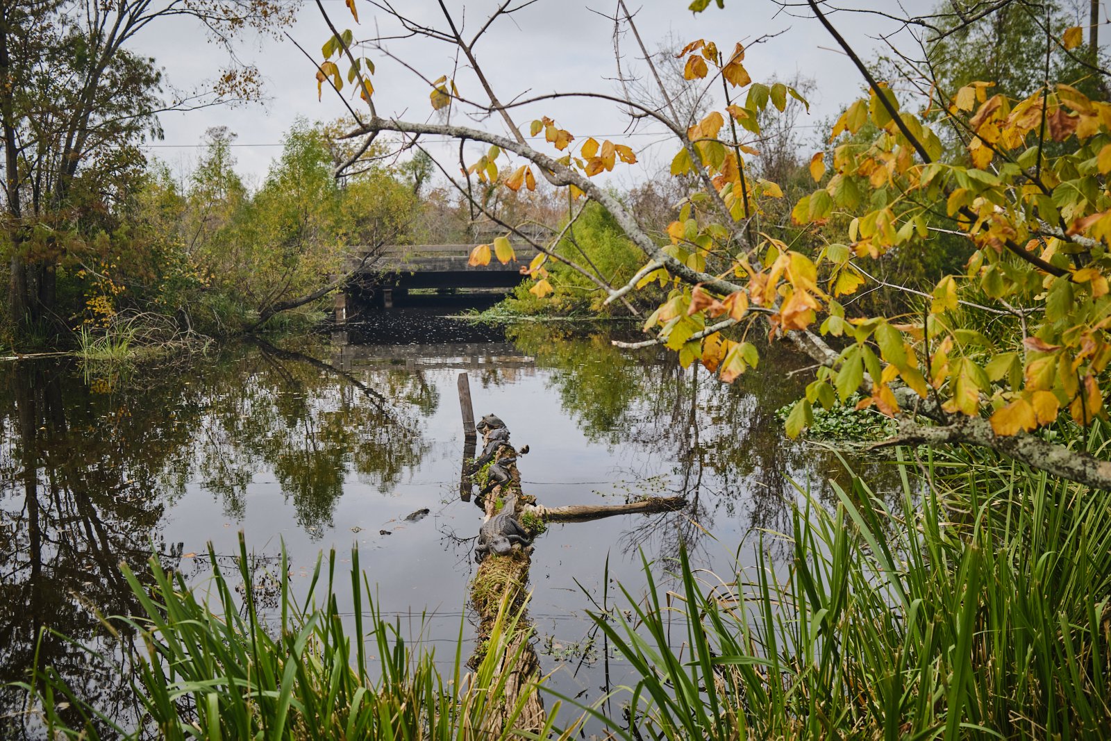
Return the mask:
<path fill-rule="evenodd" d="M 719 579 L 683 553 L 663 602 L 645 563 L 648 597 L 595 615 L 641 677 L 631 720 L 602 720 L 637 741 L 1107 738 L 1111 494 L 983 464 L 937 483 L 951 463 L 901 463 L 891 504 L 859 480 L 804 497 L 785 568 L 758 548 Z"/>

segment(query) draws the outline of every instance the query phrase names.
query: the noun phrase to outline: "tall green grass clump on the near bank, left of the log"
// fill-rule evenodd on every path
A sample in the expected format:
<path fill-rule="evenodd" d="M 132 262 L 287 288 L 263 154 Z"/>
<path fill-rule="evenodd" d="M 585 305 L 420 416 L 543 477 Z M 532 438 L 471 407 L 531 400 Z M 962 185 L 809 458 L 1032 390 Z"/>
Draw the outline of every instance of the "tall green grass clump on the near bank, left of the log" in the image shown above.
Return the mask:
<path fill-rule="evenodd" d="M 214 554 L 211 554 L 216 563 Z M 491 739 L 508 677 L 497 670 L 518 630 L 519 614 L 504 608 L 488 638 L 486 658 L 472 674 L 463 670 L 462 622 L 453 670 L 437 671 L 432 652 L 414 652 L 400 624 L 382 619 L 369 599 L 370 584 L 351 553 L 353 625 L 347 632 L 336 599 L 336 554 L 318 560 L 306 604 L 289 592 L 282 554 L 281 591 L 274 614 L 263 614 L 254 574 L 240 539 L 243 599 L 219 568 L 202 597 L 180 575 L 150 561 L 148 589 L 126 565 L 123 573 L 144 614 L 118 619 L 142 637 L 147 654 L 136 662 L 133 689 L 142 717 L 121 728 L 98 712 L 46 668 L 26 689 L 29 707 L 48 738 L 170 740 L 204 739 Z M 366 609 L 366 615 L 363 610 Z M 109 621 L 111 630 L 117 630 Z M 366 639 L 366 640 L 363 640 Z M 368 643 L 370 648 L 368 649 Z M 518 642 L 523 647 L 523 642 Z M 517 650 L 520 650 L 518 648 Z M 377 658 L 372 658 L 377 657 Z M 508 660 L 513 662 L 514 655 Z M 523 700 L 510 708 L 514 718 Z M 73 711 L 80 722 L 73 722 Z M 557 709 L 558 711 L 558 709 Z M 67 719 L 63 719 L 63 712 Z M 552 713 L 554 718 L 556 712 Z M 542 729 L 552 733 L 552 723 Z M 509 728 L 512 727 L 510 722 Z"/>

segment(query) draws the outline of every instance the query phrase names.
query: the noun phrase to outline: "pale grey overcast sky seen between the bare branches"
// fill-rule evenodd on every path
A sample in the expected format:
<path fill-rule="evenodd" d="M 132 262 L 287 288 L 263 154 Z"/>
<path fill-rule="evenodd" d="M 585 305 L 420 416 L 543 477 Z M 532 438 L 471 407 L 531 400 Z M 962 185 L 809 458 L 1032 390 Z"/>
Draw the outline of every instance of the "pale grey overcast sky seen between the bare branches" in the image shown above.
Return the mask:
<path fill-rule="evenodd" d="M 398 30 L 388 16 L 366 0 L 356 0 L 360 23 L 353 21 L 342 0 L 322 1 L 337 27 L 351 28 L 356 39 L 388 36 Z M 698 16 L 687 10 L 688 2 L 628 0 L 651 51 L 669 39 L 685 43 L 705 38 L 715 41 L 728 53 L 734 42 L 748 46 L 764 34 L 778 33 L 748 50 L 745 67 L 757 81 L 773 77 L 790 80 L 798 74 L 814 80 L 817 90 L 811 97 L 811 112 L 801 121 L 803 126 L 815 127 L 845 101 L 860 94 L 860 76 L 850 60 L 834 50 L 835 42 L 815 19 L 791 17 L 770 0 L 727 0 L 724 10 L 711 2 L 711 8 Z M 457 22 L 462 22 L 470 31 L 464 32 L 464 37 L 469 37 L 496 2 L 446 0 L 446 4 Z M 603 17 L 613 16 L 615 4 L 615 0 L 538 0 L 512 18 L 500 19 L 476 49 L 499 98 L 507 101 L 521 94 L 569 90 L 619 92 L 614 81 L 613 23 Z M 897 10 L 895 0 L 854 0 L 845 4 Z M 934 3 L 932 0 L 902 0 L 901 4 L 905 11 L 924 12 Z M 447 26 L 436 0 L 397 0 L 394 7 L 429 26 L 441 29 Z M 832 13 L 831 20 L 864 58 L 880 48 L 875 40 L 878 34 L 895 30 L 891 21 L 878 16 L 841 12 Z M 307 2 L 298 11 L 289 34 L 318 59 L 321 44 L 330 36 L 314 2 Z M 178 88 L 207 84 L 227 62 L 219 47 L 209 43 L 204 31 L 188 20 L 152 26 L 138 41 L 137 51 L 154 57 L 169 81 Z M 628 33 L 621 39 L 623 63 L 643 72 L 643 64 L 637 63 L 641 54 L 634 43 Z M 454 49 L 444 43 L 404 39 L 389 41 L 388 49 L 430 79 L 450 74 L 454 64 Z M 156 142 L 151 151 L 171 167 L 188 169 L 198 156 L 198 143 L 206 129 L 227 126 L 238 134 L 237 169 L 249 183 L 257 182 L 264 177 L 272 158 L 280 153 L 282 136 L 298 117 L 330 120 L 347 112 L 327 87 L 323 101 L 317 100 L 316 70 L 289 40 L 246 38 L 238 56 L 257 64 L 262 72 L 267 101 L 163 116 L 164 140 Z M 371 79 L 380 114 L 416 121 L 434 120 L 427 84 L 381 52 L 368 51 L 367 56 L 377 68 Z M 347 64 L 341 64 L 341 69 L 346 79 Z M 472 76 L 464 70 L 458 79 L 462 94 L 478 97 L 480 91 Z M 351 88 L 346 87 L 344 93 L 349 92 Z M 354 107 L 361 103 L 358 98 L 351 102 Z M 655 143 L 660 137 L 648 127 L 641 126 L 635 133 L 624 134 L 629 120 L 613 103 L 562 100 L 514 112 L 518 122 L 528 122 L 541 114 L 554 118 L 580 141 L 601 134 L 632 146 L 644 167 L 639 169 L 639 176 L 630 173 L 627 177 L 644 177 L 653 166 L 670 160 L 675 149 L 673 142 Z M 500 120 L 491 119 L 483 126 L 506 132 Z"/>

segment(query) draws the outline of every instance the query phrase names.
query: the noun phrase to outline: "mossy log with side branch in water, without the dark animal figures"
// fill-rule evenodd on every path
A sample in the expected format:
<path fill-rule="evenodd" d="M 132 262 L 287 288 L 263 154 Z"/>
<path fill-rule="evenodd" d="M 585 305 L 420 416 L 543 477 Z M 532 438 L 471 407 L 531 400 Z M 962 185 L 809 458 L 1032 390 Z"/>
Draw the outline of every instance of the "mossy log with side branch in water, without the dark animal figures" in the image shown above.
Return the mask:
<path fill-rule="evenodd" d="M 486 419 L 489 418 L 483 421 Z M 500 420 L 498 423 L 500 424 Z M 481 423 L 480 429 L 483 429 Z M 483 447 L 497 438 L 498 429 L 501 428 L 484 428 Z M 682 497 L 672 497 L 648 498 L 625 504 L 541 507 L 537 504 L 536 498 L 521 490 L 521 474 L 516 462 L 518 455 L 508 440 L 502 441 L 501 447 L 494 451 L 493 459 L 474 474 L 474 479 L 480 487 L 486 487 L 488 481 L 483 472 L 489 471 L 494 463 L 500 463 L 509 474 L 508 480 L 490 488 L 476 503 L 483 508 L 484 522 L 500 514 L 506 505 L 512 505 L 517 521 L 524 527 L 530 539 L 537 538 L 540 532 L 529 528 L 529 523 L 534 525 L 551 521 L 593 520 L 614 514 L 668 512 L 679 510 L 687 503 Z M 537 682 L 541 675 L 540 660 L 532 643 L 532 623 L 526 611 L 531 565 L 532 545 L 513 545 L 512 551 L 506 555 L 490 549 L 471 582 L 471 603 L 479 614 L 479 635 L 474 653 L 468 662 L 470 668 L 478 670 L 486 659 L 490 639 L 498 631 L 503 603 L 507 607 L 502 619 L 506 625 L 512 627 L 511 634 L 503 639 L 506 650 L 494 670 L 497 681 L 491 682 L 501 682 L 502 692 L 498 698 L 498 707 L 488 715 L 487 727 L 483 729 L 494 735 L 500 735 L 510 725 L 513 730 L 539 732 L 546 724 L 543 702 L 537 691 Z"/>

